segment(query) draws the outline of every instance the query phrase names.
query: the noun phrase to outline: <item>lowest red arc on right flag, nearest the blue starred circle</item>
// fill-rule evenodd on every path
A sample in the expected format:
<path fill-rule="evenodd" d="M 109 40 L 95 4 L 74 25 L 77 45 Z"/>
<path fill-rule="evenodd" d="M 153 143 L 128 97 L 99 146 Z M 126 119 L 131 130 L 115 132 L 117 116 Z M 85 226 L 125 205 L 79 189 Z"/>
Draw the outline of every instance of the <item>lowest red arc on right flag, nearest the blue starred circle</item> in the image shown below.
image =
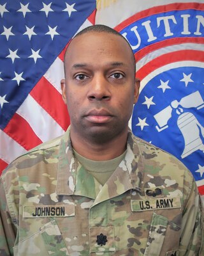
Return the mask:
<path fill-rule="evenodd" d="M 164 65 L 172 63 L 172 60 L 173 62 L 187 61 L 187 60 L 203 62 L 204 61 L 203 55 L 204 55 L 204 52 L 194 51 L 194 50 L 182 50 L 182 51 L 176 51 L 176 52 L 169 52 L 155 58 L 152 61 L 149 61 L 149 63 L 144 65 L 142 68 L 140 68 L 136 72 L 136 77 L 142 80 L 144 77 L 150 74 L 150 72 L 156 70 L 157 68 L 160 68 L 160 67 L 163 67 Z"/>

